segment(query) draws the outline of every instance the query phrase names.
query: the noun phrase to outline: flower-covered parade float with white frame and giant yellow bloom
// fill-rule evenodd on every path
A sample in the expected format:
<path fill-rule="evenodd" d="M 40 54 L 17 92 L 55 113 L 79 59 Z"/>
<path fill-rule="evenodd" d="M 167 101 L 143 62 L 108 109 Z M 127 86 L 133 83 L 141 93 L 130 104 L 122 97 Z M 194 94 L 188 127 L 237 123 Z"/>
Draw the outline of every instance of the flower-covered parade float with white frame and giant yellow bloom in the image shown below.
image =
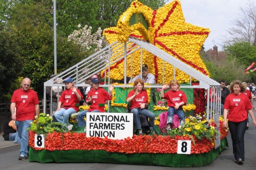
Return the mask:
<path fill-rule="evenodd" d="M 89 128 L 87 133 L 77 132 L 75 128 L 68 131 L 60 123 L 52 123 L 50 115 L 41 113 L 31 124 L 29 160 L 41 163 L 99 162 L 173 167 L 210 164 L 227 146 L 228 131 L 222 126 L 219 104 L 205 107 L 206 104 L 209 106 L 209 102 L 205 102 L 205 91 L 209 94 L 210 89 L 214 89 L 220 93 L 220 84 L 209 78 L 209 72 L 199 56 L 209 32 L 209 29 L 185 22 L 179 1 L 157 10 L 138 1 L 132 2 L 130 8 L 120 16 L 117 26 L 103 31 L 110 44 L 108 47 L 61 72 L 45 82 L 44 86 L 55 86 L 54 79 L 57 77 L 63 80 L 72 77 L 76 86 L 88 86 L 81 82 L 99 72 L 103 88 L 108 90 L 109 84 L 115 86 L 112 101 L 105 105 L 107 113 L 101 114 L 108 116 L 108 113 L 116 113 L 122 117 L 131 114 L 125 113 L 125 99 L 133 84 L 126 83 L 126 77 L 140 74 L 142 63 L 147 64 L 157 82 L 145 84 L 150 101 L 148 109 L 156 116 L 157 135 L 111 138 L 104 135 L 104 131 L 98 137 L 91 137 Z M 166 132 L 159 128 L 162 121 L 159 115 L 168 109 L 166 101 L 159 98 L 159 89 L 174 78 L 188 97 L 188 105 L 183 106 L 186 123 L 184 127 Z M 123 83 L 117 82 L 122 79 Z M 207 95 L 207 101 L 209 98 Z M 83 110 L 87 108 L 81 107 Z M 71 123 L 76 124 L 76 120 L 75 115 L 71 116 Z M 118 121 L 109 124 L 117 127 Z M 123 134 L 131 132 L 133 128 L 123 127 Z"/>

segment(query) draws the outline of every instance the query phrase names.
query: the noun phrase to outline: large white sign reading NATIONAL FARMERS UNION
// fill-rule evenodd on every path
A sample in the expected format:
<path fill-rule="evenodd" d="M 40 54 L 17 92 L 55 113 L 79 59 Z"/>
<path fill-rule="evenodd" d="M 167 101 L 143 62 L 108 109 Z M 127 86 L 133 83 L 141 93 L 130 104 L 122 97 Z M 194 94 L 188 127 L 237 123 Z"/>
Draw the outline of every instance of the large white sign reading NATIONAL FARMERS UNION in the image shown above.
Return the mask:
<path fill-rule="evenodd" d="M 88 112 L 86 137 L 107 136 L 110 139 L 133 137 L 133 113 Z"/>

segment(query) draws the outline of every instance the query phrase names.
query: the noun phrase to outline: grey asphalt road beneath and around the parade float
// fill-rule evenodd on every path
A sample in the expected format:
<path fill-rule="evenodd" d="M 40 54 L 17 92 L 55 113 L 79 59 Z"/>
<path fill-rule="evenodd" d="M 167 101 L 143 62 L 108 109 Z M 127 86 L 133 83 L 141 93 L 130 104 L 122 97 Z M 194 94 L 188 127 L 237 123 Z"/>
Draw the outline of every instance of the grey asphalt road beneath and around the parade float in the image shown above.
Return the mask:
<path fill-rule="evenodd" d="M 254 101 L 254 106 L 256 102 Z M 256 110 L 253 111 L 256 116 Z M 249 120 L 249 129 L 245 133 L 245 161 L 243 165 L 238 165 L 233 162 L 234 157 L 232 154 L 231 138 L 230 134 L 227 136 L 229 148 L 226 148 L 219 157 L 211 164 L 203 167 L 191 167 L 191 168 L 175 168 L 175 167 L 163 167 L 163 166 L 144 166 L 144 165 L 124 165 L 124 164 L 105 164 L 105 163 L 38 163 L 29 162 L 29 160 L 18 160 L 19 145 L 12 147 L 5 147 L 0 149 L 0 170 L 15 170 L 15 169 L 256 169 L 256 128 L 252 126 L 251 119 Z M 1 137 L 0 140 L 3 140 Z"/>

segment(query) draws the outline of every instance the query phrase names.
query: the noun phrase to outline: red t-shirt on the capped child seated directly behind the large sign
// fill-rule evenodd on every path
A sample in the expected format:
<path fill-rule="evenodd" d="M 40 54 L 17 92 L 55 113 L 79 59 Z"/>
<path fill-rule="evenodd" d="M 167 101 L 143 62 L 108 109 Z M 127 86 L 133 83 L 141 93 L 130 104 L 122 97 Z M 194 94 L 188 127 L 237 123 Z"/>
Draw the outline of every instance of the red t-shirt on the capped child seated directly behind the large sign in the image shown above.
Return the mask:
<path fill-rule="evenodd" d="M 106 92 L 106 90 L 104 90 L 103 88 L 98 88 L 97 90 L 92 88 L 88 92 L 87 98 L 89 96 L 91 96 L 92 98 L 92 104 L 88 109 L 89 111 L 98 110 L 99 112 L 104 112 L 105 101 L 112 99 L 111 95 L 108 92 Z M 86 100 L 88 100 L 87 98 Z"/>

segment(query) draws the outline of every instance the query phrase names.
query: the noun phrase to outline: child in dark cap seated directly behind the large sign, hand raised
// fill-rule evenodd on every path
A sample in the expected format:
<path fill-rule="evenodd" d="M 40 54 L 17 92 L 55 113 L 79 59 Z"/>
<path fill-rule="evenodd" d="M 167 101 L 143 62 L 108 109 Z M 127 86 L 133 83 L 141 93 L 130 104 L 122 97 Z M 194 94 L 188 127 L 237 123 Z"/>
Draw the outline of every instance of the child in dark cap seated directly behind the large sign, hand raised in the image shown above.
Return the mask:
<path fill-rule="evenodd" d="M 86 132 L 86 121 L 83 117 L 86 117 L 87 112 L 104 112 L 105 102 L 112 100 L 113 85 L 109 87 L 109 93 L 103 88 L 99 88 L 100 80 L 97 75 L 92 76 L 91 90 L 87 94 L 86 103 L 90 105 L 90 108 L 78 113 L 78 130 Z M 85 104 L 85 103 L 84 103 Z"/>

